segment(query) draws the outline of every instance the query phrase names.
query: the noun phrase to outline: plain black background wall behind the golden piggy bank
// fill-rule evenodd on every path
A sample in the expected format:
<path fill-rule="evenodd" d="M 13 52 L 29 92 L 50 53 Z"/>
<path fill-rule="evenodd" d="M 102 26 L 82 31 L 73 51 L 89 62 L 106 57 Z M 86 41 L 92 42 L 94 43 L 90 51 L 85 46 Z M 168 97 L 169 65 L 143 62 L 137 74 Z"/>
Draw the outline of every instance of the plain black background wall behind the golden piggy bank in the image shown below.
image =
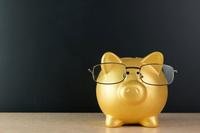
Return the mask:
<path fill-rule="evenodd" d="M 0 111 L 100 111 L 87 69 L 161 51 L 165 112 L 200 111 L 200 1 L 1 0 Z"/>

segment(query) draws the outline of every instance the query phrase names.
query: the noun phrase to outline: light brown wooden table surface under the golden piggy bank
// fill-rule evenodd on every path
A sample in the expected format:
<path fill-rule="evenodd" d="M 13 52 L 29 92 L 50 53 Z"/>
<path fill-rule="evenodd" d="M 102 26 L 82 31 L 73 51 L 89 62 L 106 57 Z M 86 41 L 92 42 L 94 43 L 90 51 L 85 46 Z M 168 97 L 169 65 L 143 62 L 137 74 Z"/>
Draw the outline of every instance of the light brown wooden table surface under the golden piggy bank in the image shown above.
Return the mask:
<path fill-rule="evenodd" d="M 200 113 L 162 113 L 158 128 L 106 128 L 102 113 L 0 113 L 0 133 L 200 133 Z"/>

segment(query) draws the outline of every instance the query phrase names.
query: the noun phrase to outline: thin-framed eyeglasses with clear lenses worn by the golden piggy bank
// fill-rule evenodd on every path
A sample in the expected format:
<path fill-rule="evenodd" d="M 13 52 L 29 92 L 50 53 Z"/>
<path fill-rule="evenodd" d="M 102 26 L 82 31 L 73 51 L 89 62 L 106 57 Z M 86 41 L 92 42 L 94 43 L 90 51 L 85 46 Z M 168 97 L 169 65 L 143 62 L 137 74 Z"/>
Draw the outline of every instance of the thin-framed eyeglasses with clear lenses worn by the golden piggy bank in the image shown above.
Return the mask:
<path fill-rule="evenodd" d="M 104 68 L 108 68 L 107 72 L 102 70 Z M 131 74 L 129 69 L 136 69 L 136 74 L 142 82 L 155 86 L 171 84 L 174 80 L 174 73 L 178 72 L 172 66 L 166 64 L 145 64 L 140 67 L 127 67 L 125 64 L 115 62 L 97 64 L 92 69 L 88 69 L 88 71 L 92 74 L 92 78 L 96 83 L 110 85 L 124 81 L 127 75 Z"/>

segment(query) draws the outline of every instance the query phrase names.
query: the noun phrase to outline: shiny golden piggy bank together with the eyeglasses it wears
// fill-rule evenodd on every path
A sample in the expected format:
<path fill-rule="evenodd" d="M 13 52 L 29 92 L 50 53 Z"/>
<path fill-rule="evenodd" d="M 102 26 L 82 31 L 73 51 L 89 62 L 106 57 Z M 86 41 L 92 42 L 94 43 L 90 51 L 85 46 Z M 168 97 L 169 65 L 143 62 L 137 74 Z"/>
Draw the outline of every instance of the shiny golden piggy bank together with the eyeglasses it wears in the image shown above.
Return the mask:
<path fill-rule="evenodd" d="M 158 115 L 167 101 L 167 85 L 176 72 L 163 61 L 160 52 L 144 58 L 119 58 L 106 52 L 101 64 L 89 69 L 97 82 L 96 96 L 107 127 L 158 126 Z"/>

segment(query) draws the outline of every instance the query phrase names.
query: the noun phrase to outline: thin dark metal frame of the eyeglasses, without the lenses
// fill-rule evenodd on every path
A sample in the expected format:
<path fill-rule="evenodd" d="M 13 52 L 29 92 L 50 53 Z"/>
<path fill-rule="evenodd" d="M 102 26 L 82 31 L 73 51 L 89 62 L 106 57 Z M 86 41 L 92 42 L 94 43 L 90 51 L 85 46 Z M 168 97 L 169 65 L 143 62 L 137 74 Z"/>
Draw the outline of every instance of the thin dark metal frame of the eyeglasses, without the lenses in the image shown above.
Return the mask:
<path fill-rule="evenodd" d="M 96 81 L 96 80 L 95 80 L 95 77 L 94 77 L 94 69 L 95 69 L 95 67 L 101 66 L 102 64 L 119 64 L 119 65 L 123 65 L 124 68 L 126 69 L 126 73 L 123 75 L 123 76 L 124 76 L 123 80 L 121 80 L 121 81 L 119 81 L 119 82 L 115 82 L 115 83 L 101 83 L 101 82 Z M 121 82 L 123 82 L 123 81 L 126 79 L 127 75 L 129 75 L 129 74 L 127 73 L 127 72 L 128 72 L 127 69 L 138 69 L 139 71 L 137 71 L 137 75 L 139 75 L 139 79 L 140 79 L 143 83 L 148 84 L 148 85 L 152 85 L 152 86 L 166 86 L 166 85 L 170 85 L 170 84 L 151 84 L 151 83 L 147 83 L 147 82 L 143 81 L 143 80 L 142 80 L 143 75 L 141 74 L 140 71 L 141 71 L 141 68 L 142 68 L 142 67 L 147 66 L 147 65 L 166 65 L 166 64 L 151 63 L 151 64 L 144 64 L 144 65 L 141 65 L 141 66 L 137 67 L 137 66 L 126 66 L 126 65 L 123 64 L 123 63 L 117 63 L 117 62 L 104 62 L 104 63 L 100 63 L 100 64 L 94 65 L 94 66 L 92 67 L 92 69 L 89 68 L 88 71 L 92 74 L 92 79 L 93 79 L 96 83 L 98 83 L 98 84 L 113 85 L 113 84 L 121 83 Z M 167 65 L 167 66 L 170 66 L 170 65 Z M 170 66 L 170 67 L 172 67 L 172 66 Z M 173 67 L 172 67 L 172 68 L 173 68 Z M 173 71 L 174 73 L 178 73 L 178 71 L 177 71 L 176 69 L 173 68 L 173 70 L 174 70 L 174 71 Z M 173 76 L 174 76 L 174 75 L 173 75 Z M 174 78 L 174 77 L 173 77 L 173 78 Z"/>

